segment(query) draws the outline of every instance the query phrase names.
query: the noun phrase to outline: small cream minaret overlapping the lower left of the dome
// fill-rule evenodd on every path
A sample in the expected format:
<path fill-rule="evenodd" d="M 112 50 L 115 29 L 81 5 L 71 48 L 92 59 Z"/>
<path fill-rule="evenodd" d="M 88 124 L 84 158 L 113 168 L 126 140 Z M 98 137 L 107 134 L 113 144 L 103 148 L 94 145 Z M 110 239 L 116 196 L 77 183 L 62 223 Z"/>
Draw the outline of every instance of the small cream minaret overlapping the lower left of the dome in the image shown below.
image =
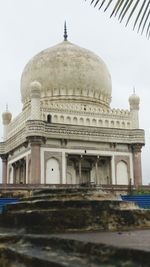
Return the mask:
<path fill-rule="evenodd" d="M 38 81 L 30 83 L 30 93 L 31 93 L 31 120 L 40 120 L 41 84 Z"/>

